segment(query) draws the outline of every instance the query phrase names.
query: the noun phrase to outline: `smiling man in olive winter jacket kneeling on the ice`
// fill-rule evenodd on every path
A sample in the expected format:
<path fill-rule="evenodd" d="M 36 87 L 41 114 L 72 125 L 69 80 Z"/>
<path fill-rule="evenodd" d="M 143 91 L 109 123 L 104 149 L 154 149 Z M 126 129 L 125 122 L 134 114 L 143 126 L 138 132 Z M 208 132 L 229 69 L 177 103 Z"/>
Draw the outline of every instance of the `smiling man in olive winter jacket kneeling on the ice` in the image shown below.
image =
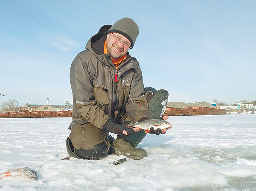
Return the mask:
<path fill-rule="evenodd" d="M 131 120 L 138 122 L 152 117 L 148 100 L 156 93 L 154 88 L 145 92 L 139 62 L 128 53 L 138 34 L 137 24 L 130 18 L 122 18 L 113 26 L 102 26 L 73 60 L 70 84 L 74 109 L 67 138 L 71 157 L 98 160 L 106 153 L 132 159 L 147 156 L 144 149 L 135 148 L 145 132 L 125 127 Z M 161 92 L 165 94 L 162 97 L 166 94 L 168 97 L 167 91 Z M 152 107 L 154 112 L 160 105 Z M 156 113 L 159 117 L 159 111 Z M 163 134 L 167 129 L 159 130 L 151 129 L 150 133 Z M 117 134 L 117 139 L 109 132 Z"/>

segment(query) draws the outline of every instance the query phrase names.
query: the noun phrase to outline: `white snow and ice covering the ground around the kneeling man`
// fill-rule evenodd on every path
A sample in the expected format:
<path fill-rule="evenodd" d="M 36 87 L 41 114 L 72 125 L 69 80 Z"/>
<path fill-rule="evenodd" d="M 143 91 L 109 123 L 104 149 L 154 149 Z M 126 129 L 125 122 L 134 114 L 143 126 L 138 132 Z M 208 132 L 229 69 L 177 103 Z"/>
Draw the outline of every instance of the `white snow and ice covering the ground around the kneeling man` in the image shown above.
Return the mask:
<path fill-rule="evenodd" d="M 255 191 L 256 114 L 171 116 L 172 129 L 148 134 L 142 160 L 67 157 L 71 118 L 0 119 L 0 173 L 29 167 L 37 180 L 0 180 L 0 191 Z M 114 134 L 111 134 L 116 137 Z"/>

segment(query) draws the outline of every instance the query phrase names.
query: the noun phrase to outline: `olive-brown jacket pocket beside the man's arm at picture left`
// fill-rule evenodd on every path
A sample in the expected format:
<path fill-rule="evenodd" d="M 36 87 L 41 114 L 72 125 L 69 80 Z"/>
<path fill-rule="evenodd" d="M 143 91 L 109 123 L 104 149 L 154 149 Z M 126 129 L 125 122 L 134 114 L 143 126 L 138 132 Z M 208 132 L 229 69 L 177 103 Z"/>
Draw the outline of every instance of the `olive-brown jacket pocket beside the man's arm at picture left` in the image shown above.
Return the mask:
<path fill-rule="evenodd" d="M 109 104 L 109 89 L 102 86 L 93 86 L 96 104 L 107 114 Z"/>

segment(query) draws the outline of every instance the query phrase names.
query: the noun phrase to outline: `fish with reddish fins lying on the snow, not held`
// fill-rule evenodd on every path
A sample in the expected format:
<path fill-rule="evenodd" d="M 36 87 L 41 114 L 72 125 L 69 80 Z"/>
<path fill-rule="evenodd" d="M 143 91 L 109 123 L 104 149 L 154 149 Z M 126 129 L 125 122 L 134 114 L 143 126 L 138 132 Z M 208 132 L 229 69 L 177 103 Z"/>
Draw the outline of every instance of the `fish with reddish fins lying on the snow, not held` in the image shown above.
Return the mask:
<path fill-rule="evenodd" d="M 4 177 L 23 177 L 26 181 L 36 180 L 37 174 L 28 167 L 17 168 L 15 170 L 8 169 L 8 171 L 0 174 L 0 179 Z"/>

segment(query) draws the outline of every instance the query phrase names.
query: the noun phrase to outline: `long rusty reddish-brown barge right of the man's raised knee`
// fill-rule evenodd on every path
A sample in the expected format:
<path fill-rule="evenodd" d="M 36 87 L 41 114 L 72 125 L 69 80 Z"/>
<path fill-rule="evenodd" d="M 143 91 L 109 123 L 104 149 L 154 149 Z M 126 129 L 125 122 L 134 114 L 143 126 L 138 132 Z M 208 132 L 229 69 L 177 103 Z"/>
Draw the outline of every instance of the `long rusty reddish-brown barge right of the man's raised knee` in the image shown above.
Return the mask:
<path fill-rule="evenodd" d="M 186 106 L 184 108 L 166 107 L 164 115 L 226 115 L 225 109 L 216 109 L 199 106 Z"/>

